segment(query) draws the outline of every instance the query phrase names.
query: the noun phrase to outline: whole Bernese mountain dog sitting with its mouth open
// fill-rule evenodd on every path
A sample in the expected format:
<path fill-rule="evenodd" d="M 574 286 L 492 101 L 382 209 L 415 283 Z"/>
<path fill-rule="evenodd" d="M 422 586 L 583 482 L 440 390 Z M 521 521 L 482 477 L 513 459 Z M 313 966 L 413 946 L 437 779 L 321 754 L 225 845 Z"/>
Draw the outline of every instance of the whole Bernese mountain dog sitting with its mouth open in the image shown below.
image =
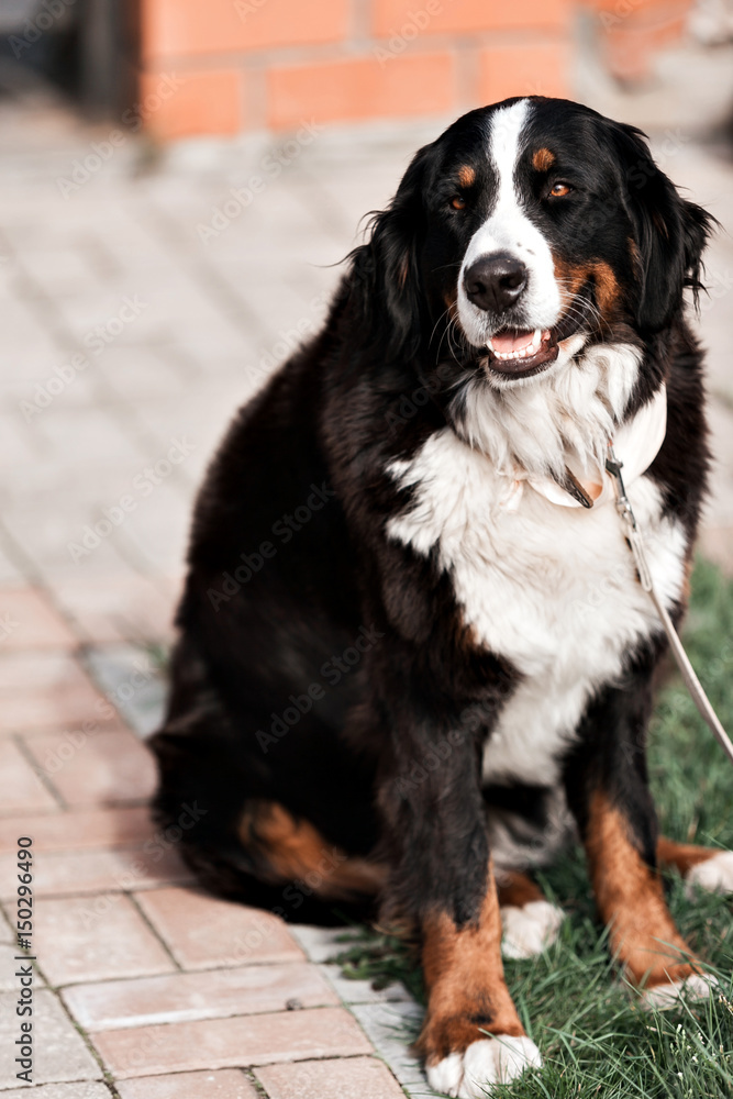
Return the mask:
<path fill-rule="evenodd" d="M 660 864 L 645 759 L 709 463 L 701 288 L 713 219 L 644 135 L 530 97 L 412 159 L 323 330 L 236 415 L 196 507 L 157 812 L 220 895 L 285 919 L 378 903 L 419 936 L 433 1088 L 541 1064 L 504 954 L 557 934 L 534 867 L 585 846 L 640 995 L 704 996 Z M 377 911 L 377 909 L 375 909 Z"/>

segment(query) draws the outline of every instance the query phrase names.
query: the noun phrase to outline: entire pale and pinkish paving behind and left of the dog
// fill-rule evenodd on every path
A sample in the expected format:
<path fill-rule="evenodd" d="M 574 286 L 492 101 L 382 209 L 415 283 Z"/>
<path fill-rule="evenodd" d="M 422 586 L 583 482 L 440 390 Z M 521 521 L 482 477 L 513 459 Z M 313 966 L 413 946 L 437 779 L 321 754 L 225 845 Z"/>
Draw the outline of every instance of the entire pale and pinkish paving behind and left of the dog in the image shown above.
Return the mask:
<path fill-rule="evenodd" d="M 38 1099 L 426 1094 L 403 990 L 341 978 L 333 935 L 196 890 L 149 821 L 142 737 L 212 448 L 315 330 L 327 265 L 431 130 L 304 127 L 160 158 L 42 100 L 0 104 L 0 1095 L 27 1090 L 12 1063 L 25 835 Z M 685 136 L 664 153 L 657 135 L 666 167 L 730 227 L 733 167 Z M 706 545 L 730 564 L 730 237 L 709 267 Z"/>

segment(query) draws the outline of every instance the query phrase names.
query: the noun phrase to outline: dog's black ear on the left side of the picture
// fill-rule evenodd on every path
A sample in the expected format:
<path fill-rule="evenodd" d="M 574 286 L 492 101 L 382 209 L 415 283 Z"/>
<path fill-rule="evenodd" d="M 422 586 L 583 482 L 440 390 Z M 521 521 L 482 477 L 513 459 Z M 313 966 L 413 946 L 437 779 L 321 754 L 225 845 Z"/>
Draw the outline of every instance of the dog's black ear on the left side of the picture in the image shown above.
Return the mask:
<path fill-rule="evenodd" d="M 420 347 L 424 309 L 420 244 L 429 147 L 413 157 L 387 209 L 373 217 L 367 243 L 351 254 L 351 300 L 367 341 L 390 358 L 412 357 Z"/>

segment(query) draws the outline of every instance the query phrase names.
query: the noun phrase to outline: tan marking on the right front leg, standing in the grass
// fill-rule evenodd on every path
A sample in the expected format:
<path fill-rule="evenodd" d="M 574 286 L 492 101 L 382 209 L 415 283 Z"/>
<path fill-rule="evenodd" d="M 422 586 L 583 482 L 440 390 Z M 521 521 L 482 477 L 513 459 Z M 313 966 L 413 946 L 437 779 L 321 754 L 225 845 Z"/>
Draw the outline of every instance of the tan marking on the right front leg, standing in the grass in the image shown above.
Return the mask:
<path fill-rule="evenodd" d="M 603 793 L 590 807 L 586 851 L 596 901 L 611 931 L 611 947 L 636 984 L 684 980 L 696 970 L 676 961 L 690 950 L 677 931 L 658 874 L 629 839 L 628 824 Z"/>

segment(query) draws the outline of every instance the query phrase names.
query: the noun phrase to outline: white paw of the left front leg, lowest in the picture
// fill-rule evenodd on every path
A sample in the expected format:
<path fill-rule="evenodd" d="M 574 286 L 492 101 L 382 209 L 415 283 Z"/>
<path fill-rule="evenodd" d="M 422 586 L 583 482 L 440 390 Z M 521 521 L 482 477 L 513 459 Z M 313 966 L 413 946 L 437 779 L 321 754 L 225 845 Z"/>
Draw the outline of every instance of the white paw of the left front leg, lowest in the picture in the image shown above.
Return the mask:
<path fill-rule="evenodd" d="M 426 1073 L 435 1091 L 458 1099 L 486 1099 L 491 1095 L 491 1085 L 509 1084 L 525 1068 L 542 1068 L 542 1057 L 532 1039 L 497 1034 L 471 1042 L 465 1053 L 452 1053 L 429 1066 Z"/>

